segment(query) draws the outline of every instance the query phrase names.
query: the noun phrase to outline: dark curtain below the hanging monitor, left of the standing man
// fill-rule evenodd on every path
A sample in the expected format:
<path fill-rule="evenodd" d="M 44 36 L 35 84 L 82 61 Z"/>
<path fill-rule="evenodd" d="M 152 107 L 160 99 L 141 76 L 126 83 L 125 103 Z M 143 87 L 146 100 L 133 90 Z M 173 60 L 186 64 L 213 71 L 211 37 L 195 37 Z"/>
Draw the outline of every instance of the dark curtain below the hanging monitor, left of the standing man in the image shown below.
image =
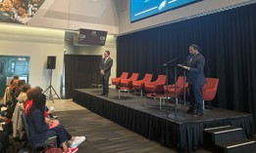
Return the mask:
<path fill-rule="evenodd" d="M 74 89 L 89 88 L 100 84 L 100 61 L 102 56 L 65 55 L 66 98 L 73 96 Z"/>

